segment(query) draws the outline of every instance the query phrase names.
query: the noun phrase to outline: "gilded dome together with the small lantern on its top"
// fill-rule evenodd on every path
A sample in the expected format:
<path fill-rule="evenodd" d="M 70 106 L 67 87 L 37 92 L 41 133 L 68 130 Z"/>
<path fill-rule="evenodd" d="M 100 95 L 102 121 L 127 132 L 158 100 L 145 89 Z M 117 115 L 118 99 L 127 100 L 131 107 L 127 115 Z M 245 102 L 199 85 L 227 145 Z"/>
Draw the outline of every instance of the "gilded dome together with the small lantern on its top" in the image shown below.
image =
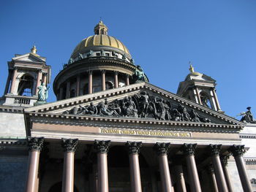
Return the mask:
<path fill-rule="evenodd" d="M 94 34 L 95 35 L 83 39 L 82 42 L 75 47 L 71 57 L 78 53 L 83 53 L 83 50 L 89 50 L 89 47 L 95 46 L 114 47 L 124 51 L 124 53 L 129 54 L 129 50 L 121 41 L 108 35 L 108 27 L 105 26 L 102 20 L 100 20 L 99 23 L 94 27 Z"/>

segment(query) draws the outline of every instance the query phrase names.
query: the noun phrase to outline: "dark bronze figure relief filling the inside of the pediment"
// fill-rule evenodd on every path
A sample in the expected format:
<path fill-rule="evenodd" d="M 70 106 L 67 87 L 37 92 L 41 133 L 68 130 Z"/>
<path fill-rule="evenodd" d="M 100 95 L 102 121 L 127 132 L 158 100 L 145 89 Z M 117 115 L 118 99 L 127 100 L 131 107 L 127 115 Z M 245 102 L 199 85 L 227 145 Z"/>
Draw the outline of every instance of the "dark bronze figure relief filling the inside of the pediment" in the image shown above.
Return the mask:
<path fill-rule="evenodd" d="M 175 105 L 177 107 L 174 107 Z M 105 99 L 97 105 L 94 105 L 93 102 L 86 106 L 80 105 L 64 111 L 63 114 L 211 123 L 211 120 L 198 115 L 193 109 L 189 111 L 181 104 L 172 104 L 170 101 L 150 95 L 146 91 L 140 91 L 133 96 L 126 96 L 124 99 L 116 99 L 111 102 Z"/>

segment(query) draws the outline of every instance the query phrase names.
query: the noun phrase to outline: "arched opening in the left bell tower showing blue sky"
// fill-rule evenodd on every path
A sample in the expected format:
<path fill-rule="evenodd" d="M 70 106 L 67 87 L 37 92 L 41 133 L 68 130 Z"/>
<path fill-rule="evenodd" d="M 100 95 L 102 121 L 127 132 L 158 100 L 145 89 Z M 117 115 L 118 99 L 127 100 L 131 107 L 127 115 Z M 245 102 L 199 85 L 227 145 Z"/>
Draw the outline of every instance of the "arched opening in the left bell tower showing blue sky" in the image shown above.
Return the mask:
<path fill-rule="evenodd" d="M 33 96 L 33 85 L 34 78 L 29 74 L 24 74 L 20 78 L 20 83 L 18 86 L 18 95 L 19 96 Z"/>

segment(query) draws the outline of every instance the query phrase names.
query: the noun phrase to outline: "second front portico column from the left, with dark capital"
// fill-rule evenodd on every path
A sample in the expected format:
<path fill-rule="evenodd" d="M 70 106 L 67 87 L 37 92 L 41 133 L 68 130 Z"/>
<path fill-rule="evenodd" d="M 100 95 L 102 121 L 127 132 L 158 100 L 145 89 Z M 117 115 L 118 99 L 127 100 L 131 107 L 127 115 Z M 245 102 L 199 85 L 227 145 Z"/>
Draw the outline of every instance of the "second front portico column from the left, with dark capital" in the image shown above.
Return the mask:
<path fill-rule="evenodd" d="M 63 139 L 61 146 L 64 148 L 64 167 L 62 177 L 62 192 L 74 191 L 74 156 L 78 139 Z"/>

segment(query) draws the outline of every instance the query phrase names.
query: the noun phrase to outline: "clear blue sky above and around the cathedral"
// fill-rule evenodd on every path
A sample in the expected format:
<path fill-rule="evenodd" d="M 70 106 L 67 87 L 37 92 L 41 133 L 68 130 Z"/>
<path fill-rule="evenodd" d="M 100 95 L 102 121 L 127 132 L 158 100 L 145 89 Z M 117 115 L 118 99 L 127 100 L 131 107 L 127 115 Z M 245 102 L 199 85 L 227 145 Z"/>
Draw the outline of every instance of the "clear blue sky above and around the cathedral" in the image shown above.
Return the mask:
<path fill-rule="evenodd" d="M 256 118 L 256 1 L 0 1 L 0 66 L 4 93 L 7 61 L 38 54 L 52 66 L 52 83 L 82 39 L 102 17 L 124 42 L 152 84 L 176 93 L 195 71 L 217 80 L 222 110 L 236 116 L 252 107 Z M 55 101 L 50 91 L 48 101 Z"/>

